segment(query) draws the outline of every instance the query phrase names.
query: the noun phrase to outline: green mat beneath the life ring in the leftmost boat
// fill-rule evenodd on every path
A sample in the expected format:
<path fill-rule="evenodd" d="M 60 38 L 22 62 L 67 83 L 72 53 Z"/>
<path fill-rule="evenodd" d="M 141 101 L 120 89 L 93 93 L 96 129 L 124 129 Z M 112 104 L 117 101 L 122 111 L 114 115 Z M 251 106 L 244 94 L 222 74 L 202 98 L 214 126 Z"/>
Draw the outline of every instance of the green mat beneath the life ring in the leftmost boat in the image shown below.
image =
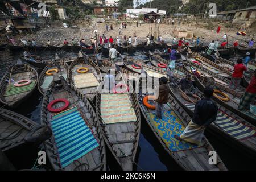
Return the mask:
<path fill-rule="evenodd" d="M 13 95 L 20 94 L 23 92 L 28 92 L 34 88 L 34 85 L 35 85 L 35 80 L 32 80 L 30 84 L 25 85 L 25 86 L 14 86 L 14 83 L 10 84 L 10 90 L 8 89 L 9 86 L 7 85 L 6 92 L 5 92 L 4 96 L 6 96 L 6 97 L 13 96 Z"/>

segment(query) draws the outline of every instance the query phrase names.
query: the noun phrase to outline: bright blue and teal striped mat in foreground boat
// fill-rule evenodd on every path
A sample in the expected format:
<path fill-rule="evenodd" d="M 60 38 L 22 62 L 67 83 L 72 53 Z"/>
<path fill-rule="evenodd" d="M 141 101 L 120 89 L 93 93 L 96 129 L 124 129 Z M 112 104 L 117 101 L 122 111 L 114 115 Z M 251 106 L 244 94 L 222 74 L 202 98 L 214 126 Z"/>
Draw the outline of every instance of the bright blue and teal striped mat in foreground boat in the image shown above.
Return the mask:
<path fill-rule="evenodd" d="M 61 167 L 66 167 L 99 146 L 77 107 L 52 116 L 51 127 Z"/>

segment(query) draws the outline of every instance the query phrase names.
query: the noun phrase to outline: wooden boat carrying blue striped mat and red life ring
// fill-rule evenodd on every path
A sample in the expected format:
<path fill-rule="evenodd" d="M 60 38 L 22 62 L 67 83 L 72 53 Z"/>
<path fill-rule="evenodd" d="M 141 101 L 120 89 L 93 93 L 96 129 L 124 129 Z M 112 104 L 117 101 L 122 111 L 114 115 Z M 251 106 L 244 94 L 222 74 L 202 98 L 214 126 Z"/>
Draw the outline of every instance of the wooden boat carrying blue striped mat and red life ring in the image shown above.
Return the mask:
<path fill-rule="evenodd" d="M 41 124 L 51 127 L 53 133 L 44 142 L 51 166 L 56 171 L 105 171 L 105 144 L 92 105 L 84 94 L 73 85 L 68 85 L 63 77 L 55 78 L 43 97 L 41 109 Z M 48 104 L 60 98 L 68 100 L 67 109 L 57 114 L 49 111 Z M 55 105 L 55 109 L 60 108 L 64 102 Z M 67 117 L 71 115 L 73 119 Z M 65 130 L 59 130 L 59 127 Z"/>

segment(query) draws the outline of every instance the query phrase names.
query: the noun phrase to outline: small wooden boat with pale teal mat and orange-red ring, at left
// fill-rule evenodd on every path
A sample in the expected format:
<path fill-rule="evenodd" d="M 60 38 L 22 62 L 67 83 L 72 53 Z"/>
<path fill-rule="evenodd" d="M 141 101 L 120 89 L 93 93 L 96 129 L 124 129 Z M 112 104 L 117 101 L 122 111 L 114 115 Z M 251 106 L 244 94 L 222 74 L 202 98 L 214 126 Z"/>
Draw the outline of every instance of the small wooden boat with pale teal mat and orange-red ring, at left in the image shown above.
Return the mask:
<path fill-rule="evenodd" d="M 65 80 L 67 80 L 68 76 L 68 64 L 65 63 L 64 59 L 56 59 L 49 63 L 41 72 L 39 79 L 38 79 L 38 90 L 39 92 L 44 95 L 46 90 L 48 89 L 49 85 L 51 85 L 54 77 L 63 76 Z M 53 72 L 52 75 L 47 75 L 46 72 L 49 69 L 57 69 L 57 73 Z"/>

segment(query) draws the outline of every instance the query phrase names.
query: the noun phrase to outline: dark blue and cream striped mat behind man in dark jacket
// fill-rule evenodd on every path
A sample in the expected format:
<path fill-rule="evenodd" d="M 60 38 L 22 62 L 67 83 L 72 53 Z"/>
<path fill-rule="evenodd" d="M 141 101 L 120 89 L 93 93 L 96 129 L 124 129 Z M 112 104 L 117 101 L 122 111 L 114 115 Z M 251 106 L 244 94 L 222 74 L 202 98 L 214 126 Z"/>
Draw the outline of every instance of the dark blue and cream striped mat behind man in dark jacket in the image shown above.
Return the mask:
<path fill-rule="evenodd" d="M 194 110 L 194 104 L 186 104 L 186 106 Z M 238 122 L 236 119 L 229 117 L 229 115 L 225 114 L 222 110 L 218 110 L 217 118 L 215 121 L 216 125 L 218 125 L 225 133 L 231 135 L 232 137 L 242 140 L 249 137 L 254 137 L 256 131 L 243 123 Z M 212 123 L 214 125 L 214 123 Z"/>

